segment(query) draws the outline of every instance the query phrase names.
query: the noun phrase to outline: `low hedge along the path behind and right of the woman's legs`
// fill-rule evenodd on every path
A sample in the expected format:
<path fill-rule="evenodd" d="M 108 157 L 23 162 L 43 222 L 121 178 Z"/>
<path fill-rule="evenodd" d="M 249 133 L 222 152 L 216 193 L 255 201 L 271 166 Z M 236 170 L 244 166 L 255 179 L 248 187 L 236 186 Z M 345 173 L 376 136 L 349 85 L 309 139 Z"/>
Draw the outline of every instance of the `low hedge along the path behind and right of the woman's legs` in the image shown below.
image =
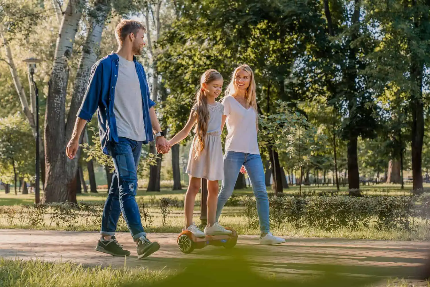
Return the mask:
<path fill-rule="evenodd" d="M 254 198 L 244 200 L 244 216 L 249 227 L 258 223 Z M 339 228 L 415 231 L 415 219 L 430 222 L 430 195 L 411 196 L 313 196 L 269 197 L 270 226 L 282 228 L 289 223 L 332 231 Z"/>

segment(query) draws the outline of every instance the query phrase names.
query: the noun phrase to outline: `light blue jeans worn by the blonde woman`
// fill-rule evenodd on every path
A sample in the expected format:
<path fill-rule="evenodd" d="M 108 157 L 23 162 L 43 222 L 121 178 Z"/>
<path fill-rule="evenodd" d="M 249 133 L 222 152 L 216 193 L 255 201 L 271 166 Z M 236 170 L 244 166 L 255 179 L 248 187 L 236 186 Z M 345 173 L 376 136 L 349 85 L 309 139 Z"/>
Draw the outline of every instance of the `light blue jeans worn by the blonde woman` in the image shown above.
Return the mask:
<path fill-rule="evenodd" d="M 221 215 L 221 210 L 227 200 L 233 194 L 233 188 L 239 176 L 239 171 L 245 166 L 246 173 L 252 184 L 252 190 L 257 201 L 257 213 L 260 221 L 261 233 L 270 231 L 269 223 L 269 198 L 267 197 L 266 183 L 264 180 L 264 168 L 259 154 L 248 154 L 244 152 L 226 151 L 224 154 L 224 180 L 221 191 L 218 194 L 218 205 L 216 209 L 216 221 Z"/>

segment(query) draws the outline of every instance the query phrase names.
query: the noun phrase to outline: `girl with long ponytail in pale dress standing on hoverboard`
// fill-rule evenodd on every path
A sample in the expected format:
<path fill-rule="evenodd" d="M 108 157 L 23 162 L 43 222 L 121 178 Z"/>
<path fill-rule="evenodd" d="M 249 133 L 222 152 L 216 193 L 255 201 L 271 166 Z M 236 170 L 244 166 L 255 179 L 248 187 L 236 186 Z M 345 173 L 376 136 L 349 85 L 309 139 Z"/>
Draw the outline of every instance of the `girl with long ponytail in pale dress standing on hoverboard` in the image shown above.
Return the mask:
<path fill-rule="evenodd" d="M 170 141 L 173 146 L 185 139 L 191 128 L 196 125 L 196 136 L 190 149 L 187 173 L 190 175 L 185 194 L 185 228 L 197 237 L 205 235 L 229 235 L 232 232 L 215 222 L 218 195 L 218 180 L 224 179 L 221 119 L 224 107 L 215 99 L 221 94 L 223 78 L 216 70 L 207 70 L 200 78 L 200 89 L 196 93 L 195 104 L 185 127 Z M 200 179 L 208 183 L 208 225 L 202 232 L 193 222 L 194 201 L 200 190 Z"/>

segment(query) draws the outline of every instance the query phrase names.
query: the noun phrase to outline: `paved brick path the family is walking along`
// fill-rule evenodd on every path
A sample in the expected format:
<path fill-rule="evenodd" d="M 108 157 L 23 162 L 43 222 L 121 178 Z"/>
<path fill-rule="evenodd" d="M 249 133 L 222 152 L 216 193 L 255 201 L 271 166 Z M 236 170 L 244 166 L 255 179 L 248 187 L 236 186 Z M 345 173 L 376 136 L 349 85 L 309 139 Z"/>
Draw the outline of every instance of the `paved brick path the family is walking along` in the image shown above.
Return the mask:
<path fill-rule="evenodd" d="M 39 258 L 46 261 L 70 261 L 88 265 L 124 266 L 123 257 L 94 251 L 97 232 L 0 230 L 0 256 L 9 259 Z M 176 245 L 177 234 L 148 234 L 158 241 L 160 250 L 145 260 L 138 260 L 129 233 L 118 233 L 118 241 L 132 252 L 127 257 L 129 267 L 150 269 L 182 269 L 193 260 L 228 255 L 223 247 L 205 247 L 183 254 Z M 279 276 L 303 276 L 318 273 L 319 266 L 347 266 L 349 274 L 378 274 L 413 280 L 426 258 L 428 243 L 416 241 L 373 241 L 326 238 L 286 238 L 286 244 L 260 246 L 258 237 L 242 235 L 237 247 L 252 248 L 249 257 L 259 272 Z M 74 242 L 74 243 L 72 243 Z M 426 285 L 427 286 L 427 285 Z"/>

